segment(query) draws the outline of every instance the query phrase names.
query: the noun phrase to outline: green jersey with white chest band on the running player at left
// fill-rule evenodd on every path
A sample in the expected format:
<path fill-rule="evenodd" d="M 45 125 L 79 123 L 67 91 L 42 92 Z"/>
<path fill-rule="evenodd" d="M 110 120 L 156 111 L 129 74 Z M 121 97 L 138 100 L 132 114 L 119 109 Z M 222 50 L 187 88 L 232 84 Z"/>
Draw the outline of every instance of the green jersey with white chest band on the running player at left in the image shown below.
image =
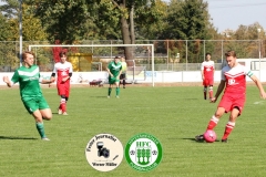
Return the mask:
<path fill-rule="evenodd" d="M 11 81 L 13 83 L 19 82 L 21 98 L 22 101 L 27 101 L 32 97 L 42 96 L 39 79 L 39 66 L 32 65 L 30 67 L 21 66 L 17 69 Z"/>

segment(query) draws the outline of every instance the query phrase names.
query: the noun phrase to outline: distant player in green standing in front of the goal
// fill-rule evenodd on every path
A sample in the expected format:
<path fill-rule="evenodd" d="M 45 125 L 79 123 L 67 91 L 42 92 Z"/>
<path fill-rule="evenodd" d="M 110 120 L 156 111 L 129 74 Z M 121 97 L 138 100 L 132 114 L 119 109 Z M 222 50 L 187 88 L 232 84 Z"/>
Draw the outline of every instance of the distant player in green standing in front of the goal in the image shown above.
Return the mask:
<path fill-rule="evenodd" d="M 114 58 L 114 61 L 112 61 L 111 63 L 109 63 L 108 65 L 108 73 L 109 73 L 109 95 L 108 97 L 110 97 L 111 95 L 111 92 L 112 92 L 112 87 L 113 85 L 115 84 L 116 86 L 116 97 L 119 98 L 119 95 L 120 95 L 120 75 L 121 75 L 121 72 L 122 72 L 122 65 L 121 65 L 121 62 L 120 62 L 120 56 L 115 56 Z"/>

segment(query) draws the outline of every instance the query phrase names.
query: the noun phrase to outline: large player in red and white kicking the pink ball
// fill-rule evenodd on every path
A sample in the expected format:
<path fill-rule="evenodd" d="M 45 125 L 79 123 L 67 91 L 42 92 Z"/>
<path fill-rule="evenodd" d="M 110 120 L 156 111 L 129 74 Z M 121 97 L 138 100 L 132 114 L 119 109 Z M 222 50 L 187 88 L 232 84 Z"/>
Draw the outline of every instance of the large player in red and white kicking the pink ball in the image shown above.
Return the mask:
<path fill-rule="evenodd" d="M 217 92 L 211 102 L 215 103 L 224 90 L 224 95 L 217 106 L 215 114 L 212 116 L 207 129 L 214 129 L 224 113 L 231 112 L 229 121 L 225 126 L 222 142 L 226 143 L 227 137 L 235 127 L 237 117 L 242 114 L 246 101 L 246 75 L 249 76 L 259 90 L 260 97 L 266 98 L 266 93 L 260 81 L 253 72 L 244 65 L 237 63 L 235 51 L 225 53 L 227 65 L 222 69 L 222 80 Z M 196 140 L 204 140 L 203 135 L 195 136 Z"/>

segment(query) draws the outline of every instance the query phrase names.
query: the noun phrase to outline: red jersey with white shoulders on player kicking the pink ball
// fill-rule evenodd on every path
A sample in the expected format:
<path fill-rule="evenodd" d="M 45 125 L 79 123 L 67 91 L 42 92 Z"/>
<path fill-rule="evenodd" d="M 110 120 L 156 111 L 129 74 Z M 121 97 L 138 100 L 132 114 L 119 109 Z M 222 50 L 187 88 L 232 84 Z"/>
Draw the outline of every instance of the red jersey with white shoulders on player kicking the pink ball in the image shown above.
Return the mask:
<path fill-rule="evenodd" d="M 250 77 L 253 73 L 239 63 L 234 67 L 224 66 L 222 69 L 222 80 L 226 81 L 225 93 L 245 94 L 246 75 Z"/>

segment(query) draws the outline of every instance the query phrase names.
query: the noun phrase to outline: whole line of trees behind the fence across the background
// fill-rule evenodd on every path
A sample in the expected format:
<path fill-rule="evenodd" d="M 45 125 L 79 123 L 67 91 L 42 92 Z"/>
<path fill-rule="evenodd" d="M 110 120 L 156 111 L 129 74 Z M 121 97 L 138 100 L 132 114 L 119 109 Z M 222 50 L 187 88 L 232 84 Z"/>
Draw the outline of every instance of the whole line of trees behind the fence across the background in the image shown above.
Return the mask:
<path fill-rule="evenodd" d="M 83 40 L 121 40 L 124 44 L 134 44 L 136 40 L 194 40 L 188 43 L 194 58 L 202 51 L 203 40 L 266 39 L 257 22 L 218 33 L 204 0 L 171 0 L 167 3 L 163 0 L 3 1 L 6 3 L 0 6 L 0 41 L 19 40 L 20 14 L 23 41 L 49 41 L 51 44 L 79 44 Z M 257 29 L 260 29 L 259 34 Z M 181 50 L 178 42 L 167 48 L 174 52 Z M 207 44 L 207 49 L 213 52 L 215 45 Z M 131 48 L 125 48 L 124 54 L 129 60 L 134 58 Z"/>

